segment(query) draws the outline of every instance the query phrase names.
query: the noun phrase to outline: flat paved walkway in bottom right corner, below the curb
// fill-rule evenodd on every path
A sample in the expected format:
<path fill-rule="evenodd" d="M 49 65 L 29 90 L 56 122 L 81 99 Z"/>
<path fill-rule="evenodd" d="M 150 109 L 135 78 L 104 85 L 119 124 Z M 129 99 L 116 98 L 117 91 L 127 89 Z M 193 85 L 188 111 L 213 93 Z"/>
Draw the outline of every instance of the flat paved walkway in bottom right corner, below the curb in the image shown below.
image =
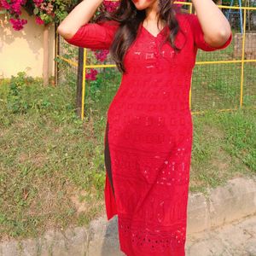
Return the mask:
<path fill-rule="evenodd" d="M 187 236 L 186 256 L 256 256 L 256 216 Z"/>

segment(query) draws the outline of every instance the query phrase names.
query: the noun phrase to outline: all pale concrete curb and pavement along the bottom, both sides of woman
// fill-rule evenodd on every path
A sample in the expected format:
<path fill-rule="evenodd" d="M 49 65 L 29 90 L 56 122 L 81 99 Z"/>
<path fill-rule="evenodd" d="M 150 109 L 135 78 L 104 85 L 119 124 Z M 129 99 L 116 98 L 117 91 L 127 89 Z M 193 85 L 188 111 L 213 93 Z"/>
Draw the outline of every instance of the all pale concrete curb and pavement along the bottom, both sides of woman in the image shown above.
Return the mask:
<path fill-rule="evenodd" d="M 49 230 L 37 239 L 4 241 L 0 256 L 124 256 L 119 251 L 117 220 L 104 216 L 88 228 Z M 256 256 L 256 177 L 236 177 L 209 189 L 207 196 L 189 193 L 186 256 L 228 255 Z"/>

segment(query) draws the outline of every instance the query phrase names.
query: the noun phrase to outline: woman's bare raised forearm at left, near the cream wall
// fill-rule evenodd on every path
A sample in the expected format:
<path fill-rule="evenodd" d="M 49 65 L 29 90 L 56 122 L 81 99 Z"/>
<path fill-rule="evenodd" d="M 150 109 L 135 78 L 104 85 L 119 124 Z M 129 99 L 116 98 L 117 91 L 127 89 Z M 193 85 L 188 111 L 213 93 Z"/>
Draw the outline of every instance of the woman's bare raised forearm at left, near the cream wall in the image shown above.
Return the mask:
<path fill-rule="evenodd" d="M 81 26 L 88 23 L 103 0 L 84 0 L 62 20 L 57 32 L 63 38 L 72 38 Z"/>

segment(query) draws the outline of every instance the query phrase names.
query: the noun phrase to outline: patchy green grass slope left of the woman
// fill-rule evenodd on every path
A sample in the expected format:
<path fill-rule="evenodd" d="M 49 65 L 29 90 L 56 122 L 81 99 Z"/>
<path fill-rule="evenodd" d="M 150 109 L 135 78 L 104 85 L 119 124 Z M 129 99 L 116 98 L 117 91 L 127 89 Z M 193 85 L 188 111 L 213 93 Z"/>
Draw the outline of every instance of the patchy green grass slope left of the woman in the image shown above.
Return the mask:
<path fill-rule="evenodd" d="M 14 96 L 3 84 L 0 91 L 1 238 L 38 236 L 102 214 L 104 119 L 81 121 L 68 85 L 23 85 Z"/>

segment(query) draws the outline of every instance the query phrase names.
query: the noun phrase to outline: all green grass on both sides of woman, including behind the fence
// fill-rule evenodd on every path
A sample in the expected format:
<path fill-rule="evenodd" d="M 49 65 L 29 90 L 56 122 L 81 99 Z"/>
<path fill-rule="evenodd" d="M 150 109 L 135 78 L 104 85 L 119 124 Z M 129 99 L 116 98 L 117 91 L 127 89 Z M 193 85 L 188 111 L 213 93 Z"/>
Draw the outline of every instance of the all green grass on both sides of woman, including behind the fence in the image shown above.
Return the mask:
<path fill-rule="evenodd" d="M 245 97 L 252 99 L 255 76 L 254 67 L 249 68 L 245 71 L 245 81 L 252 87 L 250 90 L 245 87 L 244 92 Z M 196 77 L 193 86 L 200 94 L 192 102 L 198 108 L 218 107 L 209 104 L 214 100 L 212 95 L 216 96 L 216 102 L 223 101 L 224 107 L 229 107 L 232 99 L 237 103 L 238 85 L 232 87 L 233 82 L 239 84 L 233 73 L 236 67 L 230 73 L 221 70 L 213 74 L 208 70 L 204 77 Z M 217 75 L 224 78 L 216 78 Z M 230 82 L 223 82 L 227 80 Z M 39 236 L 52 228 L 86 225 L 105 214 L 103 138 L 108 104 L 119 81 L 120 75 L 108 68 L 96 81 L 86 83 L 84 121 L 75 113 L 74 81 L 44 87 L 42 81 L 26 78 L 22 73 L 11 81 L 3 81 L 1 240 Z M 224 113 L 212 110 L 194 115 L 193 123 L 190 191 L 206 192 L 231 177 L 255 175 L 255 109 Z"/>

